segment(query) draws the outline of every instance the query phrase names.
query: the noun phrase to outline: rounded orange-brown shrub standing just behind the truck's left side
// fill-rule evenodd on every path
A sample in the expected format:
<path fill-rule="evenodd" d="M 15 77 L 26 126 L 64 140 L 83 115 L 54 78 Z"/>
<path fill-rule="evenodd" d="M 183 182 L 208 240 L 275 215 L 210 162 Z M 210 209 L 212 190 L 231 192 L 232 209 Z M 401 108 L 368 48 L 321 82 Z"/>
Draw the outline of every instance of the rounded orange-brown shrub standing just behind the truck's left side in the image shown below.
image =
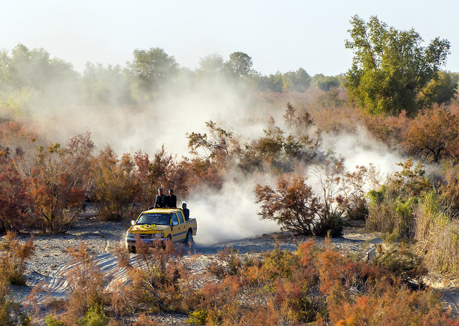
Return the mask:
<path fill-rule="evenodd" d="M 141 191 L 134 171 L 131 155 L 123 154 L 119 160 L 109 145 L 94 158 L 91 168 L 94 190 L 90 199 L 102 218 L 119 220 L 134 215 L 134 203 Z"/>

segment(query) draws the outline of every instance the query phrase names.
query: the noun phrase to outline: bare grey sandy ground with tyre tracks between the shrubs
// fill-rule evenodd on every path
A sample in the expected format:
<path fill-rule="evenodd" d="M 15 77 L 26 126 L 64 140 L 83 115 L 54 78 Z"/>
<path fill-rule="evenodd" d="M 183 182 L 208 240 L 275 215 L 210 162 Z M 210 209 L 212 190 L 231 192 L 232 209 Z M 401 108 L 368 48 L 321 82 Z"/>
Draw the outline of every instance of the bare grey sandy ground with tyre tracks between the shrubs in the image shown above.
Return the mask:
<path fill-rule="evenodd" d="M 121 278 L 124 271 L 118 267 L 113 252 L 117 245 L 123 243 L 126 229 L 127 225 L 120 222 L 101 222 L 91 214 L 86 214 L 75 222 L 73 227 L 64 235 L 35 234 L 36 252 L 27 263 L 25 272 L 27 286 L 14 288 L 14 295 L 23 299 L 30 293 L 31 288 L 45 281 L 48 295 L 65 298 L 68 284 L 64 275 L 70 261 L 67 248 L 71 246 L 76 248 L 81 242 L 88 244 L 89 252 L 104 272 L 114 275 L 115 278 Z M 379 236 L 377 233 L 366 232 L 364 225 L 356 224 L 346 228 L 342 237 L 333 238 L 332 244 L 343 251 L 364 250 L 365 255 L 371 257 L 376 244 L 382 243 Z M 25 241 L 30 236 L 20 234 L 19 237 Z M 293 237 L 289 233 L 270 233 L 225 243 L 203 245 L 199 243 L 198 230 L 197 236 L 194 237 L 195 242 L 191 247 L 191 252 L 197 254 L 193 255 L 191 272 L 202 273 L 205 271 L 206 267 L 214 261 L 215 255 L 220 250 L 224 250 L 226 246 L 239 250 L 241 254 L 262 253 L 273 249 L 275 243 L 282 249 L 296 250 L 298 243 L 309 238 L 312 238 L 318 245 L 322 245 L 324 241 L 323 237 Z M 135 261 L 135 254 L 131 254 L 131 259 Z M 187 255 L 184 259 L 187 259 Z M 426 284 L 444 293 L 444 304 L 457 314 L 459 311 L 459 286 L 455 281 L 440 279 L 438 275 L 433 274 L 425 280 Z M 163 314 L 157 316 L 157 320 L 164 324 L 184 324 L 185 319 L 186 316 L 183 315 Z"/>

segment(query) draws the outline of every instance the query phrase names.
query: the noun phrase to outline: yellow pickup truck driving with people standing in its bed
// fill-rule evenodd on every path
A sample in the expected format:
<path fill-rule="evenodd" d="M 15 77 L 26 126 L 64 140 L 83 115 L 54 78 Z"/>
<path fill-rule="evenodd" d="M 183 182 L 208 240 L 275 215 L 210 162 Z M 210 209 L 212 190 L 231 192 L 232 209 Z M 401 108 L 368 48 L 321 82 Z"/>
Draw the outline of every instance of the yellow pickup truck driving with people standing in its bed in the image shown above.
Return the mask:
<path fill-rule="evenodd" d="M 136 251 L 136 234 L 146 243 L 154 240 L 191 243 L 197 230 L 196 219 L 185 220 L 185 214 L 178 208 L 149 209 L 131 224 L 126 232 L 126 247 L 131 253 Z"/>

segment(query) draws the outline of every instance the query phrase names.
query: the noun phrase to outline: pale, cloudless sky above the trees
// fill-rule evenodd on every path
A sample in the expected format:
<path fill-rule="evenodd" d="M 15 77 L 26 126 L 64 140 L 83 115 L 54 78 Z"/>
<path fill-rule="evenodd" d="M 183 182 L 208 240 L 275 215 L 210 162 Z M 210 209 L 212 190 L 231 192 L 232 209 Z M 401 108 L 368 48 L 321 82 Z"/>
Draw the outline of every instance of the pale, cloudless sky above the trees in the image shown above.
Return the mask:
<path fill-rule="evenodd" d="M 328 76 L 351 65 L 344 40 L 354 14 L 377 15 L 398 30 L 413 27 L 426 42 L 448 39 L 444 69 L 459 72 L 456 0 L 4 0 L 0 48 L 43 47 L 80 72 L 87 61 L 125 66 L 136 48 L 161 47 L 190 69 L 207 55 L 228 60 L 241 51 L 262 74 L 302 67 Z"/>

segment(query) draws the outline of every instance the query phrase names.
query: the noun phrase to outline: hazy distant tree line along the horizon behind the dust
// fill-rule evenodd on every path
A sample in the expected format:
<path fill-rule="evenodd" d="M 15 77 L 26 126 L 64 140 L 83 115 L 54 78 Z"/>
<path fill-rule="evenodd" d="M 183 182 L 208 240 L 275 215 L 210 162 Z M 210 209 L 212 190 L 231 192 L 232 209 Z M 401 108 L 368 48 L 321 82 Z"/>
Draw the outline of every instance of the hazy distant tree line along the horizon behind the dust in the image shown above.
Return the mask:
<path fill-rule="evenodd" d="M 18 44 L 11 54 L 0 52 L 0 105 L 20 109 L 31 97 L 66 94 L 83 105 L 132 105 L 154 99 L 161 90 L 193 88 L 220 81 L 241 84 L 256 91 L 304 92 L 310 87 L 329 90 L 344 86 L 344 76 L 310 76 L 303 68 L 263 75 L 252 68 L 252 59 L 234 52 L 227 61 L 218 54 L 200 58 L 194 71 L 182 67 L 164 49 L 135 49 L 125 66 L 87 62 L 83 72 L 71 63 L 50 58 L 43 48 Z M 56 96 L 54 96 L 56 97 Z"/>

